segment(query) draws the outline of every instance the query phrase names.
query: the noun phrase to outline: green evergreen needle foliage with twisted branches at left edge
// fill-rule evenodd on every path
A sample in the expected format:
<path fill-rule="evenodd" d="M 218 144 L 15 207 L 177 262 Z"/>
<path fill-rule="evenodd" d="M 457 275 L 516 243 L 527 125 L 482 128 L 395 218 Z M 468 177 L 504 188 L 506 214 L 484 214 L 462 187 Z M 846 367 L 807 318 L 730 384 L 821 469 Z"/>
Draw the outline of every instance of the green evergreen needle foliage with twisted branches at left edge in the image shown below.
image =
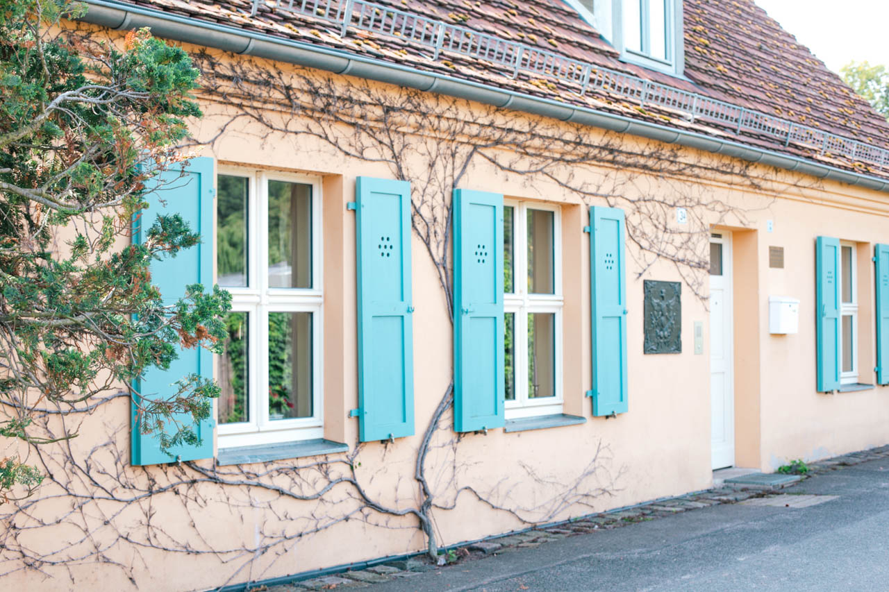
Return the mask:
<path fill-rule="evenodd" d="M 76 436 L 47 417 L 90 410 L 179 348 L 217 350 L 226 335 L 228 292 L 195 284 L 164 307 L 152 284 L 153 260 L 200 241 L 179 215 L 131 241 L 146 181 L 180 165 L 173 147 L 201 115 L 197 70 L 148 30 L 116 47 L 65 26 L 83 10 L 0 0 L 0 503 L 40 482 L 18 451 Z M 218 395 L 199 376 L 173 390 L 136 397 L 165 449 L 196 442 L 191 426 Z"/>

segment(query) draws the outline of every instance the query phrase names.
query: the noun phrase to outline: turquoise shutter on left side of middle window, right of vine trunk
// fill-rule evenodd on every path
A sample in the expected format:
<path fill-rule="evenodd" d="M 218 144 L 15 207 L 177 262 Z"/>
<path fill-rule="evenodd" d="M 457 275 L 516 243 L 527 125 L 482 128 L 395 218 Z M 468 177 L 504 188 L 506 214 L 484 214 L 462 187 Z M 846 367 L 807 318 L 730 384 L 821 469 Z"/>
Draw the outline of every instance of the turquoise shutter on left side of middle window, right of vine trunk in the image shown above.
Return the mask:
<path fill-rule="evenodd" d="M 453 425 L 503 427 L 503 196 L 453 192 Z"/>

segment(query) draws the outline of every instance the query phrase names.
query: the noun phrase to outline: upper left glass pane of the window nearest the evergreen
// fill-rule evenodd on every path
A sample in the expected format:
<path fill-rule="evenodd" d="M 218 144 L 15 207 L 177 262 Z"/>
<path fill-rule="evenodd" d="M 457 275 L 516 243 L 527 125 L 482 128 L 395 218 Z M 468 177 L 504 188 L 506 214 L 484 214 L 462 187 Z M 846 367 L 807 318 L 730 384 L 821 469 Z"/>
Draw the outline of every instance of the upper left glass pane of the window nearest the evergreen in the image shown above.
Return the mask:
<path fill-rule="evenodd" d="M 247 194 L 246 177 L 220 175 L 216 200 L 217 283 L 236 288 L 247 285 Z"/>

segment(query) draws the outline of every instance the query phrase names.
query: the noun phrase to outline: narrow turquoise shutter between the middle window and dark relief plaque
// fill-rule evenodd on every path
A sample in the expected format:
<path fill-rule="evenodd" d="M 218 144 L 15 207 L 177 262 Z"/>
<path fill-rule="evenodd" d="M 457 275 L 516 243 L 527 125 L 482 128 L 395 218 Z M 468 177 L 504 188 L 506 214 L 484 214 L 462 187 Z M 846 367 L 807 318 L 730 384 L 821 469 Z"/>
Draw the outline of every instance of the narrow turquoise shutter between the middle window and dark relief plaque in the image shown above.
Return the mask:
<path fill-rule="evenodd" d="M 589 208 L 593 415 L 627 412 L 627 266 L 624 213 Z"/>

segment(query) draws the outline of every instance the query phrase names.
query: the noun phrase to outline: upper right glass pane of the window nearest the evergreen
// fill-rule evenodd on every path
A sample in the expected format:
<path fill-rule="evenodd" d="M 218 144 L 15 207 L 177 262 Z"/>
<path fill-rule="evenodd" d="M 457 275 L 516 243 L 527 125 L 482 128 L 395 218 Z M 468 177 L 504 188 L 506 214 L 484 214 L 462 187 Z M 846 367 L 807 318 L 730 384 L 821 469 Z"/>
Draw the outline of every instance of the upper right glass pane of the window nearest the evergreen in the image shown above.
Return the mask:
<path fill-rule="evenodd" d="M 268 286 L 312 287 L 312 186 L 268 181 Z"/>

